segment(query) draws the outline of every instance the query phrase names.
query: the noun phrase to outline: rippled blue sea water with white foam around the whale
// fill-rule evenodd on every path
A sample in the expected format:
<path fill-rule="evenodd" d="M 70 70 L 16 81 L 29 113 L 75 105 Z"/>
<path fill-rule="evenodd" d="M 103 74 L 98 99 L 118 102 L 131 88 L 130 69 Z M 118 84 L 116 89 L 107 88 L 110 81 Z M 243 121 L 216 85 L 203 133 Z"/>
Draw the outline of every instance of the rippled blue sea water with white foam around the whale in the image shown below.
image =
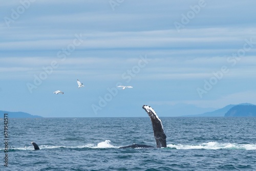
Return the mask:
<path fill-rule="evenodd" d="M 256 170 L 256 118 L 161 120 L 167 148 L 119 149 L 156 146 L 150 118 L 9 119 L 8 167 L 1 143 L 0 170 Z"/>

